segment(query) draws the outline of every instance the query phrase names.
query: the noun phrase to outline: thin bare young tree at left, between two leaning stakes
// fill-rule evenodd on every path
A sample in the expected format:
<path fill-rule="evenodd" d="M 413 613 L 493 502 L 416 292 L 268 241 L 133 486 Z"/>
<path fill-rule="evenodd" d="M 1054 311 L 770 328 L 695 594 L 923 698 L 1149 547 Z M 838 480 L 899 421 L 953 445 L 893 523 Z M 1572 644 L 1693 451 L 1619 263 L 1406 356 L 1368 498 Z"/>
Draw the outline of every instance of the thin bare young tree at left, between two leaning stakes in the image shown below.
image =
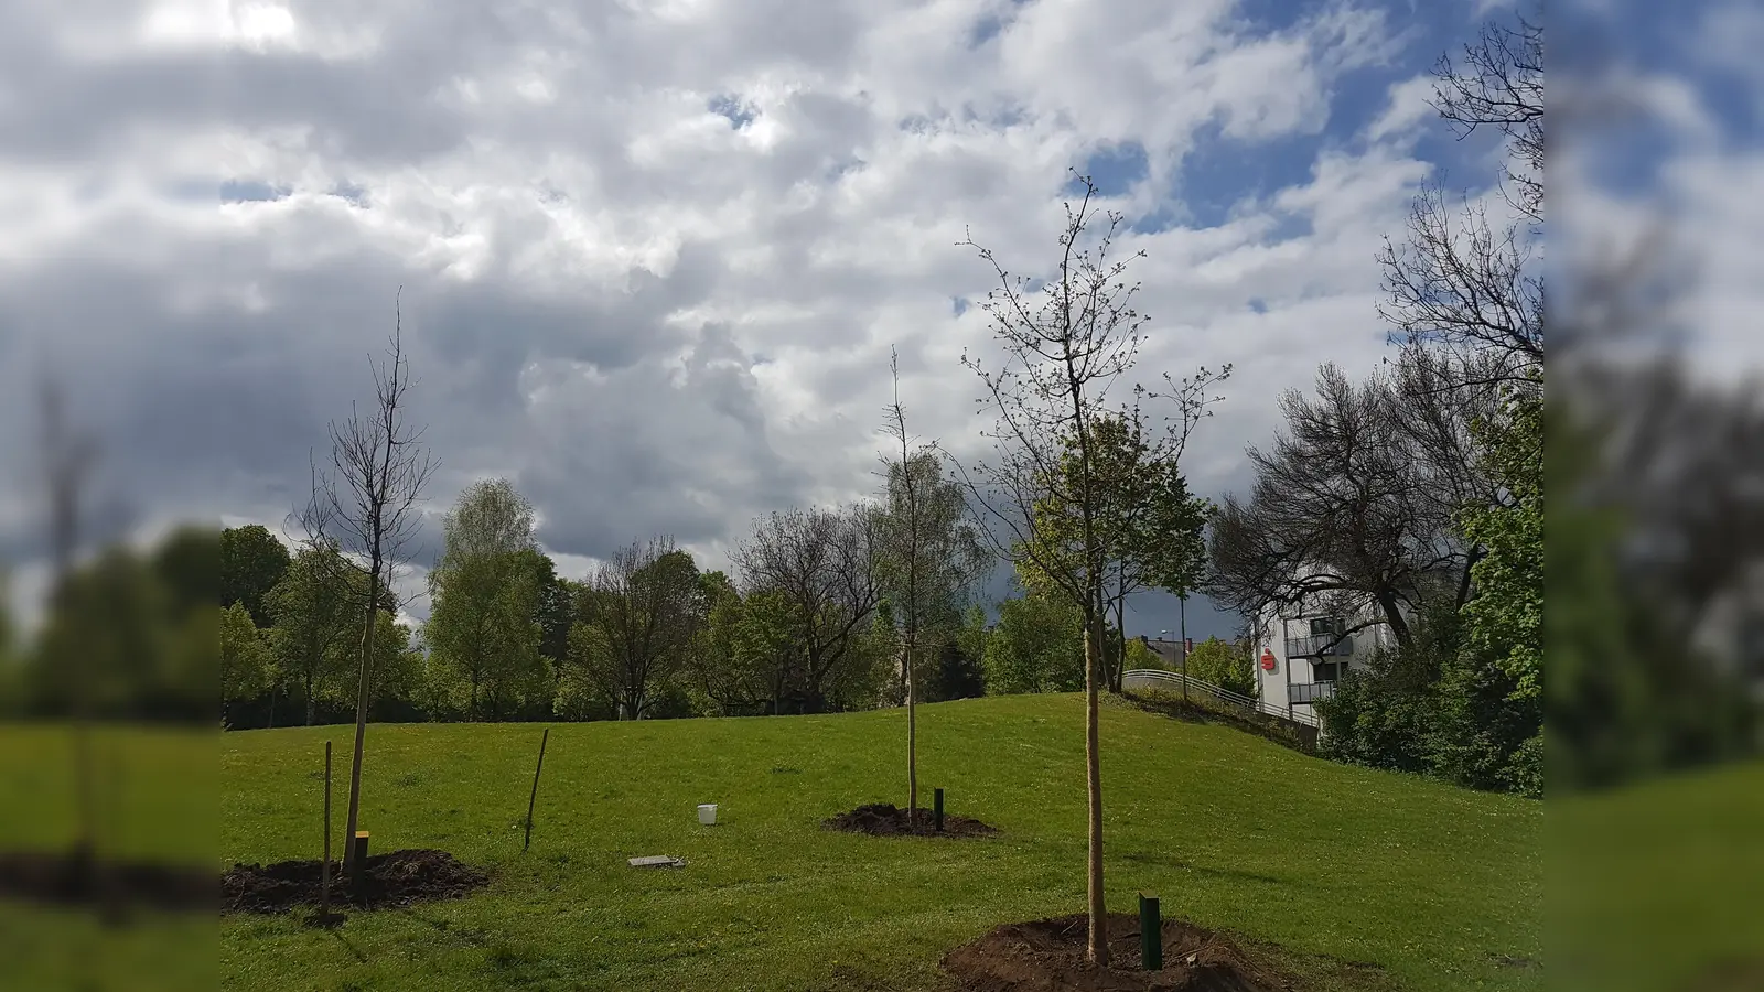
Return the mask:
<path fill-rule="evenodd" d="M 409 542 L 422 519 L 423 491 L 436 462 L 422 447 L 422 429 L 407 422 L 411 369 L 404 357 L 402 309 L 393 305 L 393 332 L 386 358 L 369 358 L 374 406 L 330 424 L 330 466 L 312 468 L 312 498 L 300 514 L 307 540 L 337 540 L 349 567 L 367 577 L 362 602 L 362 643 L 355 703 L 355 755 L 349 761 L 349 812 L 344 838 L 353 838 L 362 812 L 362 748 L 367 743 L 367 704 L 372 690 L 377 607 L 390 595 L 392 577 L 407 561 Z M 344 844 L 344 860 L 353 860 Z"/>

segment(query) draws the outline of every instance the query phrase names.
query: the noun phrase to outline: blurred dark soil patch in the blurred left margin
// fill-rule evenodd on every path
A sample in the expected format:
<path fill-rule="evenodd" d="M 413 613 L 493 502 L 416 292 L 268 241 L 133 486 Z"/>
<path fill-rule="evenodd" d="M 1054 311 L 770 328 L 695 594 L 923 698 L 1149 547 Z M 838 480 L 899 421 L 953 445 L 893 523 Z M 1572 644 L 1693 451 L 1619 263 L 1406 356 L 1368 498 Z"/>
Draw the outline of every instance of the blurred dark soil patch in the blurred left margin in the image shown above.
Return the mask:
<path fill-rule="evenodd" d="M 215 883 L 212 868 L 194 865 L 0 851 L 0 898 L 23 902 L 213 913 Z"/>

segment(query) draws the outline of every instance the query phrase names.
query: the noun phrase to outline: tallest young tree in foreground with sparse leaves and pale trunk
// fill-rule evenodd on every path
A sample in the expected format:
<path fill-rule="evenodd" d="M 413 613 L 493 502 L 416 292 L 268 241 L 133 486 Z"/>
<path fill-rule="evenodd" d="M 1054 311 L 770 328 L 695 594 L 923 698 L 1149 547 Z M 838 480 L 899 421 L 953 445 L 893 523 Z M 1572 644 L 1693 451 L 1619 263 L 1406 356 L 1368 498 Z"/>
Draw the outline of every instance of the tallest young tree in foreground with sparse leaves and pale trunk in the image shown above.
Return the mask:
<path fill-rule="evenodd" d="M 1111 247 L 1122 215 L 1101 214 L 1101 237 L 1081 245 L 1099 219 L 1097 187 L 1083 189 L 1078 207 L 1065 205 L 1060 259 L 1039 286 L 1013 277 L 995 254 L 967 238 L 991 265 L 998 286 L 983 304 L 991 318 L 1002 364 L 986 365 L 961 357 L 972 369 L 997 420 L 983 436 L 991 457 L 963 470 L 970 494 L 993 547 L 1013 565 L 1032 565 L 1085 621 L 1085 782 L 1088 791 L 1088 957 L 1108 964 L 1108 916 L 1102 895 L 1102 771 L 1097 743 L 1097 690 L 1102 683 L 1104 579 L 1108 547 L 1099 517 L 1104 485 L 1099 478 L 1095 424 L 1108 390 L 1127 372 L 1140 351 L 1145 316 L 1131 307 L 1138 284 L 1125 282 L 1127 259 Z M 1141 258 L 1134 252 L 1129 258 Z M 1039 297 L 1039 298 L 1037 298 Z M 1071 450 L 1067 448 L 1071 441 Z M 1071 470 L 1067 470 L 1067 464 Z M 1050 528 L 1035 512 L 1048 500 L 1073 507 L 1078 522 L 1076 556 L 1069 533 Z"/>

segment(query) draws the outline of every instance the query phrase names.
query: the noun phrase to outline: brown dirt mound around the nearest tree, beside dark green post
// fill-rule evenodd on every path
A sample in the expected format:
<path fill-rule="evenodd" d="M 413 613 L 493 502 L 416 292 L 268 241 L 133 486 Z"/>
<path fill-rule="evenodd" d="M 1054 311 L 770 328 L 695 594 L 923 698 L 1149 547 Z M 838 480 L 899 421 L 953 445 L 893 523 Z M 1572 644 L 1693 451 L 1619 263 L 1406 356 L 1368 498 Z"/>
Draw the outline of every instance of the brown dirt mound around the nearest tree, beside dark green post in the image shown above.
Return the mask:
<path fill-rule="evenodd" d="M 1110 967 L 1085 960 L 1087 916 L 1007 923 L 944 955 L 968 992 L 1304 992 L 1288 974 L 1258 966 L 1230 937 L 1164 920 L 1164 967 L 1140 969 L 1140 918 L 1111 913 Z"/>

